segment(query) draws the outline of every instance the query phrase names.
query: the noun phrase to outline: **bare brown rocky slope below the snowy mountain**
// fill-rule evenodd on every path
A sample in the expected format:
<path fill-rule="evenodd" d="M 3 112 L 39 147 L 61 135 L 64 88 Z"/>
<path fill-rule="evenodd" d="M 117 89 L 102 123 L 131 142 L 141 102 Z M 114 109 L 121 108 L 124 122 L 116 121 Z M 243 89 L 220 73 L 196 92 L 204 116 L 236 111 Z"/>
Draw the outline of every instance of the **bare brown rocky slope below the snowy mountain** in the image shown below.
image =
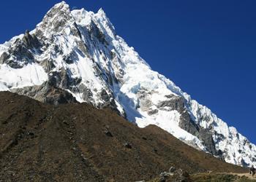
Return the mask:
<path fill-rule="evenodd" d="M 0 92 L 0 179 L 140 181 L 170 166 L 189 173 L 247 170 L 197 151 L 168 132 L 139 128 L 110 109 L 59 106 Z"/>

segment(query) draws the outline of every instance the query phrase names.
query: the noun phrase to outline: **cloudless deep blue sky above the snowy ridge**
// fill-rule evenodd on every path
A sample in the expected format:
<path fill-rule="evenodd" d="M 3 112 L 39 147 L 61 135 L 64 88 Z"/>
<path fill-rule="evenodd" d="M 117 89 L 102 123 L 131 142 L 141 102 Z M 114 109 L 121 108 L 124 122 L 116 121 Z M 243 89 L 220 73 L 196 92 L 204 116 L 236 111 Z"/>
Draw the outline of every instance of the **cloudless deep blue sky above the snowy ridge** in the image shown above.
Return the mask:
<path fill-rule="evenodd" d="M 34 29 L 59 1 L 0 1 L 0 43 Z M 256 1 L 70 0 L 102 7 L 151 68 L 256 143 Z"/>

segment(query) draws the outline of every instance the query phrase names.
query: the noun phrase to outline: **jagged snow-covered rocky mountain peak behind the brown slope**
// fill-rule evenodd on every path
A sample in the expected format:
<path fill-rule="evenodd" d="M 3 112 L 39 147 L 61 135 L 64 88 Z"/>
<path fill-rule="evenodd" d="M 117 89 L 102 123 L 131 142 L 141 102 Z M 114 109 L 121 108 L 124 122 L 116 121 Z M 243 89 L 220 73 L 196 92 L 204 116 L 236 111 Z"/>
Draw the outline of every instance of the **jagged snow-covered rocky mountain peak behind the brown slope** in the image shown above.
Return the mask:
<path fill-rule="evenodd" d="M 130 122 L 156 124 L 235 165 L 256 165 L 256 146 L 152 71 L 105 12 L 56 4 L 33 31 L 0 44 L 0 90 L 53 104 L 109 106 Z"/>

